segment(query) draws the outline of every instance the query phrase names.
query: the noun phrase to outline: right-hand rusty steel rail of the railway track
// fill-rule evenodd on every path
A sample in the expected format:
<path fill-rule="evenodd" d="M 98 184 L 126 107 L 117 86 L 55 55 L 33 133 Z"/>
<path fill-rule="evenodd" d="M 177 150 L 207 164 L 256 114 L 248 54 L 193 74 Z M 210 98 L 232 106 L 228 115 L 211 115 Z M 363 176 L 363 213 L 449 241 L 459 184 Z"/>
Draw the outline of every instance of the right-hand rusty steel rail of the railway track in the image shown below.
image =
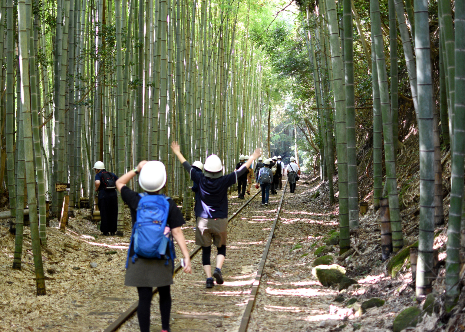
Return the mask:
<path fill-rule="evenodd" d="M 266 257 L 268 256 L 268 251 L 270 250 L 271 241 L 273 239 L 273 233 L 276 228 L 276 224 L 279 219 L 279 212 L 281 212 L 281 206 L 283 204 L 284 194 L 286 193 L 286 187 L 289 180 L 286 181 L 286 185 L 284 186 L 283 196 L 279 201 L 278 211 L 276 211 L 276 217 L 274 217 L 273 226 L 271 227 L 270 235 L 268 236 L 268 241 L 266 242 L 265 250 L 263 251 L 263 256 L 259 264 L 259 269 L 257 271 L 257 275 L 255 276 L 255 280 L 252 283 L 252 291 L 249 295 L 249 300 L 246 305 L 246 310 L 242 315 L 242 319 L 239 325 L 238 332 L 246 332 L 247 326 L 249 325 L 250 316 L 252 315 L 253 305 L 255 305 L 255 299 L 257 299 L 257 293 L 259 291 L 261 277 L 263 275 L 263 269 L 265 267 Z"/>

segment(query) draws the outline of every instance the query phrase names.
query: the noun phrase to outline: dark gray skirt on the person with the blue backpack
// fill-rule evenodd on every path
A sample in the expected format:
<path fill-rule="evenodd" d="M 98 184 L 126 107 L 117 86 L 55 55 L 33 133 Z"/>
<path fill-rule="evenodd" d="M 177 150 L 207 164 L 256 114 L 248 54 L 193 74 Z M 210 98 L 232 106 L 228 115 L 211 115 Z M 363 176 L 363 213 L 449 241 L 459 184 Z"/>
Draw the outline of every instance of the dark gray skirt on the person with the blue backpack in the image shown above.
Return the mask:
<path fill-rule="evenodd" d="M 173 284 L 173 263 L 171 259 L 138 258 L 135 263 L 129 258 L 126 269 L 125 286 L 162 287 Z"/>

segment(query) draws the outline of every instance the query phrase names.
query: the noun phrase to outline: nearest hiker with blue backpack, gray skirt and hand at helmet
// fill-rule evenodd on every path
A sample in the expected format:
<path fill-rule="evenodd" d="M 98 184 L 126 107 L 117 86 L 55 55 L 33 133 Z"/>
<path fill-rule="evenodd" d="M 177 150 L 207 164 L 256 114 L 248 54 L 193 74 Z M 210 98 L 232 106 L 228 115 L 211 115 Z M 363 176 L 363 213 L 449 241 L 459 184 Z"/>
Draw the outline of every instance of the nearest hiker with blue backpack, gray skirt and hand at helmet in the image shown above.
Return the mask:
<path fill-rule="evenodd" d="M 144 193 L 126 187 L 136 174 Z M 126 260 L 126 286 L 137 287 L 137 318 L 140 332 L 150 331 L 153 288 L 158 288 L 161 332 L 170 331 L 171 291 L 174 272 L 174 242 L 184 255 L 184 272 L 192 273 L 189 251 L 181 226 L 186 223 L 173 199 L 160 194 L 166 183 L 165 165 L 143 160 L 116 181 L 121 198 L 129 206 L 133 232 Z M 172 236 L 170 237 L 169 234 Z M 134 241 L 137 237 L 137 241 Z"/>

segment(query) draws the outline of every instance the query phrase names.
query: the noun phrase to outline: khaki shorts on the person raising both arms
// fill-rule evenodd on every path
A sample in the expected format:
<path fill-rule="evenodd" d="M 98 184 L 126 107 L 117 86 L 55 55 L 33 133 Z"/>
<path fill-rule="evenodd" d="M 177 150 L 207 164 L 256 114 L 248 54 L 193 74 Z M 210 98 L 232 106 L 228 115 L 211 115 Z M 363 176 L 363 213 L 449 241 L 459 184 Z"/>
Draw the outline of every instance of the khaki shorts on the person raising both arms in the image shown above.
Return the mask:
<path fill-rule="evenodd" d="M 227 218 L 206 219 L 197 217 L 195 244 L 203 247 L 211 246 L 213 239 L 214 246 L 226 246 L 227 227 Z"/>

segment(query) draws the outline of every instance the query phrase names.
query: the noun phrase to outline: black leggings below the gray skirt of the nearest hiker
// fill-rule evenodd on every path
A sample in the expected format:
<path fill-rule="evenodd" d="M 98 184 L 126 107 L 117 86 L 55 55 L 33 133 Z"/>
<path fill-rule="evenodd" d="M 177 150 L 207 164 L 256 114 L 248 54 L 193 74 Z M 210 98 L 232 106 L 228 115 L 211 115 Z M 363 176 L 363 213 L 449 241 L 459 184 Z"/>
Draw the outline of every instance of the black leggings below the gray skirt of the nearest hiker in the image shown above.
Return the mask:
<path fill-rule="evenodd" d="M 152 303 L 152 287 L 137 287 L 139 293 L 139 305 L 137 318 L 139 319 L 140 332 L 150 332 L 150 305 Z M 160 295 L 160 315 L 162 330 L 170 330 L 171 292 L 170 286 L 158 287 Z"/>

